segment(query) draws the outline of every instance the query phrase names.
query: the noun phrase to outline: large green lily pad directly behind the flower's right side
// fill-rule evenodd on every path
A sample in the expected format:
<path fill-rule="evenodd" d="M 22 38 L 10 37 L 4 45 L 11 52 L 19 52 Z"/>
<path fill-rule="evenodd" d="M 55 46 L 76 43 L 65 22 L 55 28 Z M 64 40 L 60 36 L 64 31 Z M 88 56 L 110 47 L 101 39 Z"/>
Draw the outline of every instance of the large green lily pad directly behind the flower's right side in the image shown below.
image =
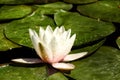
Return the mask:
<path fill-rule="evenodd" d="M 66 29 L 76 33 L 75 46 L 101 39 L 115 31 L 112 23 L 97 21 L 74 12 L 61 10 L 55 13 L 54 19 L 58 26 L 64 25 Z"/>

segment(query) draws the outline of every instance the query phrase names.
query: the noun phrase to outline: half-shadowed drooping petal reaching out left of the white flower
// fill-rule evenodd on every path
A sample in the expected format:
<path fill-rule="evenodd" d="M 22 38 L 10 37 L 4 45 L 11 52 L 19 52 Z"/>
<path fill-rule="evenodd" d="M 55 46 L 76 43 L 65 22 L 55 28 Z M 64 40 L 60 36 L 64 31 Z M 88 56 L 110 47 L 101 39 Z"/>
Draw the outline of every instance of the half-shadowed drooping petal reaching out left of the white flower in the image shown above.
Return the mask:
<path fill-rule="evenodd" d="M 11 61 L 17 62 L 17 63 L 23 63 L 23 64 L 41 63 L 41 60 L 38 58 L 18 58 L 18 59 L 12 59 Z"/>

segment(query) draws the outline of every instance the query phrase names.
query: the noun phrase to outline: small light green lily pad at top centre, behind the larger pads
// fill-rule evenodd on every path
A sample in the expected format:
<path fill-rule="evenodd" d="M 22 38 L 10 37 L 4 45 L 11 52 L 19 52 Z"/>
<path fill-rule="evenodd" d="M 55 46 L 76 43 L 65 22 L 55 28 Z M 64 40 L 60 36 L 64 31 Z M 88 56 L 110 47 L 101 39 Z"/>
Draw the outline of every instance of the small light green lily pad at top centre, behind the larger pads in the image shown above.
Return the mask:
<path fill-rule="evenodd" d="M 35 5 L 38 7 L 38 11 L 41 14 L 54 14 L 60 9 L 63 10 L 70 10 L 72 8 L 72 4 L 66 4 L 63 2 L 55 2 L 55 3 L 49 3 L 49 4 L 43 4 L 43 5 Z"/>

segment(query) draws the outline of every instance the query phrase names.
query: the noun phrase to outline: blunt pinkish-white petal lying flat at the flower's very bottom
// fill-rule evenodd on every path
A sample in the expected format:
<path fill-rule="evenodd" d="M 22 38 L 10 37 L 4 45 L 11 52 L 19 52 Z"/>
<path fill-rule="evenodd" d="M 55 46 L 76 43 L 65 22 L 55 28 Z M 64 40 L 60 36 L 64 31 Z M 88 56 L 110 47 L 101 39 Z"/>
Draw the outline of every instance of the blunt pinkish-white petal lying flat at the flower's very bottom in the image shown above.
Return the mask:
<path fill-rule="evenodd" d="M 75 66 L 70 63 L 53 63 L 52 66 L 59 70 L 72 70 L 75 68 Z"/>

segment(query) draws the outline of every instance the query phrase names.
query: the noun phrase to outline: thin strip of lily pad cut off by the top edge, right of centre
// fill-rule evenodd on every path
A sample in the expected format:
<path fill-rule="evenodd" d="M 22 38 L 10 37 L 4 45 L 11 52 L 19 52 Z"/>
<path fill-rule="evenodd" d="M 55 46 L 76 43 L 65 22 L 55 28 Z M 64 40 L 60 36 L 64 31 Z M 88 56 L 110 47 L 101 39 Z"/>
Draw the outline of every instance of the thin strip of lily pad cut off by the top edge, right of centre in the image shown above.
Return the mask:
<path fill-rule="evenodd" d="M 72 3 L 72 4 L 86 4 L 96 2 L 98 0 L 64 0 L 64 2 Z"/>

